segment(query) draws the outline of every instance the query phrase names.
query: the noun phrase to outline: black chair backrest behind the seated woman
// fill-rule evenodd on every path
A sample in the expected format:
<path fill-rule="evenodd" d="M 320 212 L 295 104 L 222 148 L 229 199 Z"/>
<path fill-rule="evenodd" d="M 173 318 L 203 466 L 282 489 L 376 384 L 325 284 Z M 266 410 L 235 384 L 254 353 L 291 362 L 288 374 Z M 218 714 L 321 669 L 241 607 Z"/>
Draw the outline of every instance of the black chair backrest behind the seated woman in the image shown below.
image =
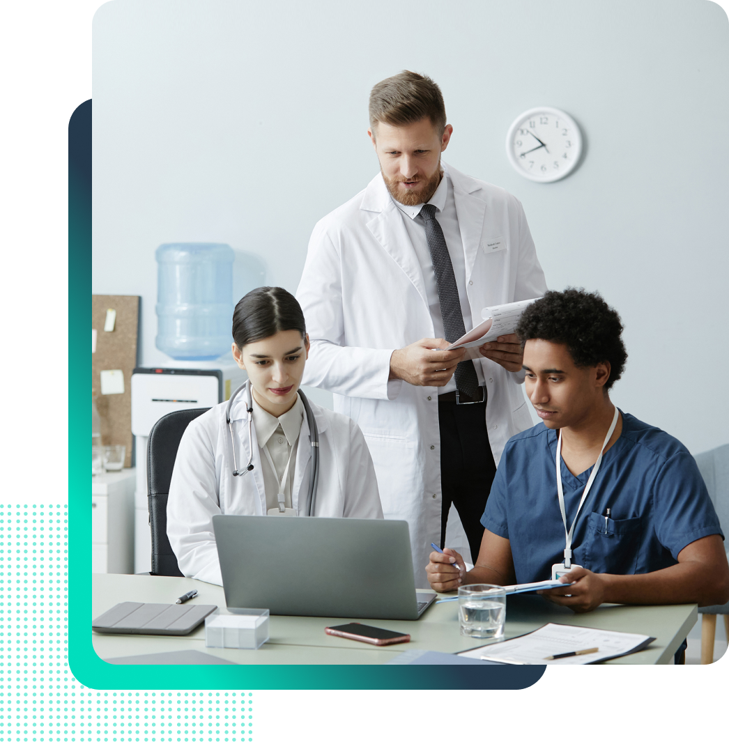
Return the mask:
<path fill-rule="evenodd" d="M 150 574 L 183 577 L 167 538 L 167 496 L 172 479 L 174 459 L 183 433 L 194 418 L 209 410 L 175 410 L 157 420 L 147 444 L 147 502 L 152 531 L 152 564 Z"/>

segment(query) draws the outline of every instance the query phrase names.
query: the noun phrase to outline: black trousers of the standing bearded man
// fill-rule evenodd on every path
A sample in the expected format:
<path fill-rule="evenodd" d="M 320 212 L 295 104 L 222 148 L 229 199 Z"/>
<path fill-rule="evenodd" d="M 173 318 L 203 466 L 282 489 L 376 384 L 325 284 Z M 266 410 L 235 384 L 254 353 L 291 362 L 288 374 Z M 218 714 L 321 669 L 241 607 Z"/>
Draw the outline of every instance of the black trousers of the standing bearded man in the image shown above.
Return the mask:
<path fill-rule="evenodd" d="M 458 511 L 471 559 L 475 563 L 481 548 L 483 525 L 491 482 L 496 474 L 494 456 L 486 431 L 486 404 L 456 404 L 438 401 L 440 427 L 440 482 L 442 511 L 440 548 L 445 543 L 445 526 L 451 502 Z"/>

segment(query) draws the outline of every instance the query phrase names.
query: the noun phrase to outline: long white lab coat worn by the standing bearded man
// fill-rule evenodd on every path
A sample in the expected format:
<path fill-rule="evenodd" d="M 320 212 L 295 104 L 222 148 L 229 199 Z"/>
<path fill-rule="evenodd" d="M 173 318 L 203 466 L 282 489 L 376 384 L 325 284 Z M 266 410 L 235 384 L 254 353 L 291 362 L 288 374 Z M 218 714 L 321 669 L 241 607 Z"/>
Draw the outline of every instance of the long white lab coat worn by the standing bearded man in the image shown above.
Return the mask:
<path fill-rule="evenodd" d="M 474 324 L 486 306 L 543 295 L 544 274 L 520 202 L 444 167 L 454 187 Z M 296 296 L 311 340 L 303 383 L 333 392 L 335 409 L 362 428 L 385 518 L 408 521 L 416 585 L 427 587 L 430 544 L 440 539 L 439 389 L 388 376 L 393 350 L 434 337 L 434 328 L 420 264 L 381 174 L 316 224 Z M 506 441 L 532 425 L 523 372 L 480 355 L 474 363 L 488 389 L 486 426 L 498 464 Z"/>

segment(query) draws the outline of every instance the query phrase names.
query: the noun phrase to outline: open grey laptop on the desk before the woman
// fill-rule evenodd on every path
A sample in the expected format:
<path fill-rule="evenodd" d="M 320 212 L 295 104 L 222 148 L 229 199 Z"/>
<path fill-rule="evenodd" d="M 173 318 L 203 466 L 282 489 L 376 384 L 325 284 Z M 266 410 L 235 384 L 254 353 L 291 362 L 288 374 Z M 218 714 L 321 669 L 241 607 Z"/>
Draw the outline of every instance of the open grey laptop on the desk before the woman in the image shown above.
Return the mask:
<path fill-rule="evenodd" d="M 356 518 L 212 518 L 228 610 L 418 619 L 408 523 Z"/>

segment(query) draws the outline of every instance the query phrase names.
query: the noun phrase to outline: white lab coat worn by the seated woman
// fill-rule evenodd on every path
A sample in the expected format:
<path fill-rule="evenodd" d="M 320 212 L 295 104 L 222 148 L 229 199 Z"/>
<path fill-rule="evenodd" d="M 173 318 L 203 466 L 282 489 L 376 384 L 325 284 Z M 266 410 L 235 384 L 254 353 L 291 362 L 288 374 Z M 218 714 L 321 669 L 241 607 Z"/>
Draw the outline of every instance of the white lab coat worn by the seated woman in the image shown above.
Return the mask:
<path fill-rule="evenodd" d="M 227 402 L 195 418 L 185 430 L 169 487 L 167 536 L 185 577 L 222 585 L 212 516 L 266 515 L 266 490 L 261 449 L 251 426 L 253 466 L 233 476 Z M 370 452 L 356 423 L 310 401 L 319 433 L 319 477 L 314 515 L 327 518 L 382 518 L 377 480 Z M 236 439 L 238 467 L 250 456 L 248 413 L 243 393 L 232 404 L 230 419 Z M 292 508 L 306 515 L 311 467 L 307 416 L 296 444 Z"/>

